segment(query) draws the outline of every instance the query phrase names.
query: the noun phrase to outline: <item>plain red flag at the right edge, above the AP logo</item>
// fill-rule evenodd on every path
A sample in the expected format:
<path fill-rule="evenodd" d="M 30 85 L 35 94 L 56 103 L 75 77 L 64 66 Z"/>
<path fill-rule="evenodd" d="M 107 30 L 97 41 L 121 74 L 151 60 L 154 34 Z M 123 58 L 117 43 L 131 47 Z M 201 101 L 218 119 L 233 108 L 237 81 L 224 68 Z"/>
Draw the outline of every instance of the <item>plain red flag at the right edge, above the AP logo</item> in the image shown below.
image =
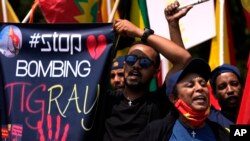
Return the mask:
<path fill-rule="evenodd" d="M 250 124 L 250 108 L 248 108 L 250 106 L 250 54 L 248 55 L 247 68 L 248 73 L 237 118 L 237 124 Z"/>

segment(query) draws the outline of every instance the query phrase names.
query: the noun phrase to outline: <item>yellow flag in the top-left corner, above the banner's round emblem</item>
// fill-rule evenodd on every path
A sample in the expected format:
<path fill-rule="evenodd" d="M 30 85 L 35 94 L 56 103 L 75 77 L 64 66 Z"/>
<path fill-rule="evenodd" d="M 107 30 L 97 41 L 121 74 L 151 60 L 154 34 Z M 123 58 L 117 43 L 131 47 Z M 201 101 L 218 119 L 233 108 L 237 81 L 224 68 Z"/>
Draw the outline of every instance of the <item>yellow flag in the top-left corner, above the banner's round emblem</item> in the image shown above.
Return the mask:
<path fill-rule="evenodd" d="M 19 19 L 13 10 L 12 6 L 10 5 L 9 1 L 6 1 L 6 10 L 7 10 L 7 17 L 8 17 L 8 22 L 13 22 L 13 23 L 19 23 Z M 0 3 L 0 21 L 3 22 L 3 8 L 2 8 L 2 3 Z"/>

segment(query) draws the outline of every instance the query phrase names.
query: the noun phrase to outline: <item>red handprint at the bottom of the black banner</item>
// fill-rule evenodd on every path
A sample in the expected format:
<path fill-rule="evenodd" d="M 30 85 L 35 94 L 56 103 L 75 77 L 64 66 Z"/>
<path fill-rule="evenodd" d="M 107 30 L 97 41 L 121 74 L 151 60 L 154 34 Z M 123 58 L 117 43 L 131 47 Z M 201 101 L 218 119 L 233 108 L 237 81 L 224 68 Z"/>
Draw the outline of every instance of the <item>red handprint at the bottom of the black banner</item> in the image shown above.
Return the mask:
<path fill-rule="evenodd" d="M 43 126 L 42 126 L 42 121 L 39 120 L 37 122 L 37 129 L 38 129 L 38 133 L 39 133 L 39 140 L 40 141 L 59 141 L 59 133 L 60 133 L 60 128 L 61 128 L 61 117 L 59 115 L 57 115 L 56 117 L 56 132 L 55 132 L 55 136 L 54 139 L 52 139 L 53 136 L 53 132 L 52 132 L 52 119 L 51 119 L 51 115 L 47 115 L 47 128 L 48 128 L 48 137 L 45 139 L 45 135 L 44 135 L 44 131 L 43 131 Z M 61 137 L 60 141 L 66 141 L 67 135 L 68 135 L 68 131 L 69 131 L 69 124 L 66 124 L 64 127 L 64 131 L 63 131 L 63 135 Z"/>

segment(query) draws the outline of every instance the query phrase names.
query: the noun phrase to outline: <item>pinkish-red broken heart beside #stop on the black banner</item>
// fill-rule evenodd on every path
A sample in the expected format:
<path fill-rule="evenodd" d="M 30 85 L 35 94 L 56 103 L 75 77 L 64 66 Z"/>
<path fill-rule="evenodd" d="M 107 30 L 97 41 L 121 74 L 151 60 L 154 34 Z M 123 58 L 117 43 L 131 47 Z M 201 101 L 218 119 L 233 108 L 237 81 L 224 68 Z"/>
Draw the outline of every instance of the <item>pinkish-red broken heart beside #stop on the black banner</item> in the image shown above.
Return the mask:
<path fill-rule="evenodd" d="M 87 48 L 90 56 L 97 60 L 107 47 L 106 37 L 101 34 L 98 35 L 97 40 L 94 35 L 89 35 L 87 37 Z"/>

